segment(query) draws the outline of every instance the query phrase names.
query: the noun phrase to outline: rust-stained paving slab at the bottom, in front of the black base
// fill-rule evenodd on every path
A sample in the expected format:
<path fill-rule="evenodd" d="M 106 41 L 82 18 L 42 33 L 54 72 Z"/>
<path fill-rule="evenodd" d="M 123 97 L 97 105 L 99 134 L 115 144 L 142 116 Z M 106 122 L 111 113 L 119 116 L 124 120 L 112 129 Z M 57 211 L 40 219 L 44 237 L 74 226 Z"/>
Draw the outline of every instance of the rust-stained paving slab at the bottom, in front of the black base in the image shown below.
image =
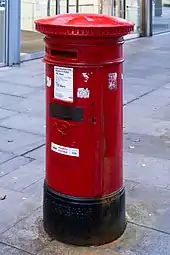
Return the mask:
<path fill-rule="evenodd" d="M 120 239 L 100 247 L 75 247 L 51 242 L 37 255 L 169 255 L 170 236 L 128 224 Z"/>

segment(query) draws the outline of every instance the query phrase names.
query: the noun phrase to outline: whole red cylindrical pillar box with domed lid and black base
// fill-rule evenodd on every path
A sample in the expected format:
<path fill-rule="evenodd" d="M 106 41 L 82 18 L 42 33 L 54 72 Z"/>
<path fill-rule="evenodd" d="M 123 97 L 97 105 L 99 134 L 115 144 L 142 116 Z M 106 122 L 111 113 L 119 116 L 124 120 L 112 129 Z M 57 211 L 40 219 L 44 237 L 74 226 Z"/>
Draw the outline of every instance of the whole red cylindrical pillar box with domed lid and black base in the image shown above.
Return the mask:
<path fill-rule="evenodd" d="M 44 228 L 67 243 L 104 244 L 126 226 L 122 36 L 133 24 L 96 14 L 35 24 L 46 49 Z"/>

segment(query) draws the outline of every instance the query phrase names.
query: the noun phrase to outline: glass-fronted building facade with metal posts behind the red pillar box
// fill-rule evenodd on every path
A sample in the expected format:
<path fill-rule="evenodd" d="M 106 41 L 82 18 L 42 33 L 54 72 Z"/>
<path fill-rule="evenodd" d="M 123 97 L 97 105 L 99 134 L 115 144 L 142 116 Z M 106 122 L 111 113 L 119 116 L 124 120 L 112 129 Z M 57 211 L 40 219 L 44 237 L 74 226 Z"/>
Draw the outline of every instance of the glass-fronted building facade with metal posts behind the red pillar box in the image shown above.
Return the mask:
<path fill-rule="evenodd" d="M 0 66 L 43 56 L 34 20 L 67 12 L 131 20 L 135 30 L 125 39 L 170 31 L 170 0 L 0 0 Z"/>

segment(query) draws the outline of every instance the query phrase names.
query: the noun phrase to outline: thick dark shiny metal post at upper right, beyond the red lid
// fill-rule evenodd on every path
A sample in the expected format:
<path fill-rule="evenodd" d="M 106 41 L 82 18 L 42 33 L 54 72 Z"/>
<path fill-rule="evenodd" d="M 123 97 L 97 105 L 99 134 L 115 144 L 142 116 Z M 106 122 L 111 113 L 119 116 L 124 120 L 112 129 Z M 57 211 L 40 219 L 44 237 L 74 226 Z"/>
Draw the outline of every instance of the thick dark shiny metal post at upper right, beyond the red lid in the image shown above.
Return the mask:
<path fill-rule="evenodd" d="M 152 0 L 140 0 L 140 36 L 152 35 Z"/>

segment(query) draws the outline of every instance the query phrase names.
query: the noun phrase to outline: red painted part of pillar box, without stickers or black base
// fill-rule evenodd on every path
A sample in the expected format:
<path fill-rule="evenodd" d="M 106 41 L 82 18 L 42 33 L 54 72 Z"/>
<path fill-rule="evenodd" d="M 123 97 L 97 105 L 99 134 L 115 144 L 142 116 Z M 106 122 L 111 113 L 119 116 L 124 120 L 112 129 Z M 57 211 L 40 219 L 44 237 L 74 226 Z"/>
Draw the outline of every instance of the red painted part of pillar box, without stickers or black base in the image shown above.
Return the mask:
<path fill-rule="evenodd" d="M 123 186 L 122 35 L 133 24 L 67 14 L 36 21 L 36 29 L 46 35 L 46 182 L 70 196 L 112 194 Z M 73 68 L 73 102 L 54 98 L 55 66 Z M 88 89 L 89 98 L 77 96 L 80 88 Z M 50 103 L 80 107 L 83 121 L 52 117 Z M 79 155 L 52 151 L 51 143 L 76 148 Z"/>

